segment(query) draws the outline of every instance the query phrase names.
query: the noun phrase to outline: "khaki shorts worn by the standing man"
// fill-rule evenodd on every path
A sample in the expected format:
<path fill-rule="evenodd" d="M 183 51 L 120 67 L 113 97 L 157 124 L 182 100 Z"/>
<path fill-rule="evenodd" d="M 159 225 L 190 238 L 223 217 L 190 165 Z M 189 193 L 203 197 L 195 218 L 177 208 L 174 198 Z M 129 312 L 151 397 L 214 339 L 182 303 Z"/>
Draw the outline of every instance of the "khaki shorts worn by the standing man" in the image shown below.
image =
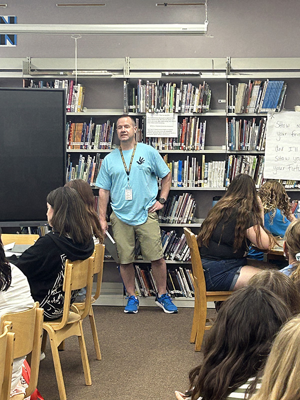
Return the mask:
<path fill-rule="evenodd" d="M 156 212 L 150 212 L 147 220 L 141 225 L 128 225 L 119 220 L 112 211 L 110 222 L 121 264 L 129 264 L 134 261 L 135 235 L 140 243 L 143 259 L 155 261 L 163 257 Z"/>

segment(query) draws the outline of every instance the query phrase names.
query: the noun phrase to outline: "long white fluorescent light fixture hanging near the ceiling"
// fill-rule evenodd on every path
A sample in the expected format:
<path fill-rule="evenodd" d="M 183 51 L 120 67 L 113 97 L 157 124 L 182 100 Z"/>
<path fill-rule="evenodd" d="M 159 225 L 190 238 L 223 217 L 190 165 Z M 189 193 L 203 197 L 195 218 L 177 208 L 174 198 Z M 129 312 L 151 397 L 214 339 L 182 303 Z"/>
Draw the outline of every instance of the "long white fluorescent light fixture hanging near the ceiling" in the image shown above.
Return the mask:
<path fill-rule="evenodd" d="M 148 23 L 148 24 L 34 24 L 3 23 L 0 34 L 205 34 L 204 23 Z"/>

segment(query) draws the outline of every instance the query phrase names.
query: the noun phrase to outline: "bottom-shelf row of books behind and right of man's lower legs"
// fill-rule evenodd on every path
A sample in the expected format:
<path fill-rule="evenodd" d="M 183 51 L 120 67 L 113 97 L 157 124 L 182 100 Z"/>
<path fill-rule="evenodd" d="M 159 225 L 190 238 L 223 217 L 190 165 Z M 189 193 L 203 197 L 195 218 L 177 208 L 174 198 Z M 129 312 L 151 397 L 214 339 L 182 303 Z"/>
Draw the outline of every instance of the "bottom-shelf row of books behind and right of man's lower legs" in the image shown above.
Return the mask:
<path fill-rule="evenodd" d="M 155 296 L 157 286 L 152 271 L 148 266 L 140 268 L 134 265 L 135 293 L 137 296 Z M 194 297 L 192 271 L 179 266 L 168 269 L 166 274 L 166 289 L 172 297 Z"/>

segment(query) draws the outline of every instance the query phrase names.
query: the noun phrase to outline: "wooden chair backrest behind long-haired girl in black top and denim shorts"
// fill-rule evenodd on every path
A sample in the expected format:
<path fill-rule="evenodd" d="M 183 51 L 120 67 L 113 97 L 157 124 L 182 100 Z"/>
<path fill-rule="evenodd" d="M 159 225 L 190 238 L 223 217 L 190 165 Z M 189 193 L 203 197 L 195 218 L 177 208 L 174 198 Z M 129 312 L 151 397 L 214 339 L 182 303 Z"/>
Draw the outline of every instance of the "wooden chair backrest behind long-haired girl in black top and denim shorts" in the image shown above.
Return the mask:
<path fill-rule="evenodd" d="M 185 234 L 186 243 L 190 251 L 192 274 L 195 280 L 195 284 L 198 286 L 199 292 L 205 293 L 206 283 L 205 283 L 204 272 L 203 272 L 196 235 L 187 228 L 183 228 L 183 231 Z"/>

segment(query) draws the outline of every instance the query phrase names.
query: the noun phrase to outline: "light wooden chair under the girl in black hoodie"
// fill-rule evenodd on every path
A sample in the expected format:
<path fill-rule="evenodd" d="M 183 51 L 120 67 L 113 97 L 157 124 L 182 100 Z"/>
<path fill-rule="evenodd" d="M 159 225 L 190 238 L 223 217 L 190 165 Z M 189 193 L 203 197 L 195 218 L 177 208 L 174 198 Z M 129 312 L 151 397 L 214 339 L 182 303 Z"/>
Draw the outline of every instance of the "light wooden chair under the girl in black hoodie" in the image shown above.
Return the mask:
<path fill-rule="evenodd" d="M 53 321 L 44 321 L 43 328 L 49 335 L 54 369 L 60 400 L 66 400 L 62 370 L 58 355 L 59 344 L 70 336 L 78 336 L 85 384 L 91 385 L 90 369 L 82 331 L 82 319 L 88 314 L 91 299 L 93 257 L 85 260 L 65 262 L 63 291 L 64 304 L 62 317 Z M 74 305 L 70 306 L 71 291 L 86 286 L 86 298 L 81 312 Z M 70 311 L 70 307 L 72 311 Z"/>

